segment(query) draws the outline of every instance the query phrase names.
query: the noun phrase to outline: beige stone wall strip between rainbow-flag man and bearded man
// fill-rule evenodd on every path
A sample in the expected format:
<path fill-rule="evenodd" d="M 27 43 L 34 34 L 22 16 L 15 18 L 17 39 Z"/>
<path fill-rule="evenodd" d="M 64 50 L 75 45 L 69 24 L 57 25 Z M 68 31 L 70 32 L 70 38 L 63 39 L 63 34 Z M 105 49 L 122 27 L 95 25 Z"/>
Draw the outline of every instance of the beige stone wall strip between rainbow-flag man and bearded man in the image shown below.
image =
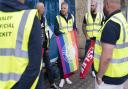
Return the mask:
<path fill-rule="evenodd" d="M 87 0 L 76 0 L 76 25 L 78 28 L 79 56 L 84 57 L 85 37 L 82 32 L 84 12 L 87 11 Z"/>

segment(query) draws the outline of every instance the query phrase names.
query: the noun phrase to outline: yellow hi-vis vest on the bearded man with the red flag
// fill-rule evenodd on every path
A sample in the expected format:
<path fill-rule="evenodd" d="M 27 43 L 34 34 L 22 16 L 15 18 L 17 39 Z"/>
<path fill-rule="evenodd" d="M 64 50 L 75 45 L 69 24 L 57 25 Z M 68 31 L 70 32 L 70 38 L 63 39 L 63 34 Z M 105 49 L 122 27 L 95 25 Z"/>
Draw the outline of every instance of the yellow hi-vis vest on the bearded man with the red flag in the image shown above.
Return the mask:
<path fill-rule="evenodd" d="M 95 21 L 93 21 L 92 15 L 90 12 L 85 13 L 86 26 L 85 30 L 87 31 L 87 35 L 89 38 L 97 37 L 98 31 L 101 28 L 103 15 L 101 13 L 97 13 Z"/>

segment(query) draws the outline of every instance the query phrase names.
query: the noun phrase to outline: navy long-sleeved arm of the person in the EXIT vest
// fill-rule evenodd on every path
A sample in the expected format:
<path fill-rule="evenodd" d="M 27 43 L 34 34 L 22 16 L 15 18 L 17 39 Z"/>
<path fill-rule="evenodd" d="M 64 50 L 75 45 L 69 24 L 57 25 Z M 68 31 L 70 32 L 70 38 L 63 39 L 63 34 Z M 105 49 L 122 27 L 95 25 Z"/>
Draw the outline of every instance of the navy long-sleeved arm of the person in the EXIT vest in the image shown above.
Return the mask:
<path fill-rule="evenodd" d="M 30 89 L 40 72 L 41 26 L 35 17 L 28 43 L 29 64 L 13 89 Z"/>

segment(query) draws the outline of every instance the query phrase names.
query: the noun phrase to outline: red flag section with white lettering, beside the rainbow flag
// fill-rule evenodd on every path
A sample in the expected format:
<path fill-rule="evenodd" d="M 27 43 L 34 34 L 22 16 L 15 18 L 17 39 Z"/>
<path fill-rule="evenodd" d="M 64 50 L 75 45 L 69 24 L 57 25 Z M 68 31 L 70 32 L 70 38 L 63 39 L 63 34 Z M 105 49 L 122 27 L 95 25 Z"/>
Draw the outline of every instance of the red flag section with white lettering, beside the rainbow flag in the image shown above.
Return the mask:
<path fill-rule="evenodd" d="M 85 79 L 93 63 L 94 45 L 95 45 L 95 41 L 91 40 L 91 45 L 88 49 L 87 56 L 85 57 L 84 62 L 81 65 L 80 78 L 82 79 Z"/>

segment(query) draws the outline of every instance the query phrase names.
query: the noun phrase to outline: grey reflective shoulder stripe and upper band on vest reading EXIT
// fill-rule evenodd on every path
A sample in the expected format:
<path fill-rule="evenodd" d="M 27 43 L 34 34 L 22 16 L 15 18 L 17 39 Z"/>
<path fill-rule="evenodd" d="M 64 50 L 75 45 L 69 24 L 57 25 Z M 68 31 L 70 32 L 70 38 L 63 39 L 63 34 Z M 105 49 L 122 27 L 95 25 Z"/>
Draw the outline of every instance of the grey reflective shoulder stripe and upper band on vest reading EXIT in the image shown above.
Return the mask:
<path fill-rule="evenodd" d="M 18 28 L 18 37 L 16 40 L 16 48 L 0 48 L 0 56 L 16 56 L 16 57 L 25 57 L 28 58 L 28 53 L 21 50 L 22 47 L 22 41 L 23 41 L 23 33 L 26 25 L 26 21 L 28 18 L 28 15 L 30 13 L 30 10 L 27 10 L 24 12 L 19 28 Z M 21 41 L 20 44 L 18 41 Z M 19 50 L 20 49 L 20 50 Z"/>

